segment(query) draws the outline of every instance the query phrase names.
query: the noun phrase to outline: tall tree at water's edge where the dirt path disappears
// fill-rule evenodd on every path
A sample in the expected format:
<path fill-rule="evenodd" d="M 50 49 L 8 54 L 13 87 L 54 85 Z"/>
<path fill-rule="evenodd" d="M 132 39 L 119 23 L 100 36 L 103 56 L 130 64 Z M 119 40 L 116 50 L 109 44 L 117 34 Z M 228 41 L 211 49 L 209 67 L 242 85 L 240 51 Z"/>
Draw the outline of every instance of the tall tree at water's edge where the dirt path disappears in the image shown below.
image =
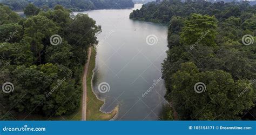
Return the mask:
<path fill-rule="evenodd" d="M 73 63 L 84 64 L 87 49 L 98 44 L 96 34 L 101 31 L 101 27 L 97 26 L 96 22 L 88 15 L 78 14 L 66 31 L 69 33 L 66 38 L 73 46 Z"/>

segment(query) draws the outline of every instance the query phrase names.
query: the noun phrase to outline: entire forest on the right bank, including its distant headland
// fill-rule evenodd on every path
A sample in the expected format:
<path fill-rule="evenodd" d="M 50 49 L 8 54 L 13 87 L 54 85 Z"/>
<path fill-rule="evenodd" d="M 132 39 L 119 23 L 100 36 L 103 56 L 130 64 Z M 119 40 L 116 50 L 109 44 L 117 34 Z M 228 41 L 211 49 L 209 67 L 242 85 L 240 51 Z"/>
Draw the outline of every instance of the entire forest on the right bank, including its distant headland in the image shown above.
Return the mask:
<path fill-rule="evenodd" d="M 170 24 L 162 72 L 178 119 L 255 120 L 255 12 L 246 2 L 176 0 L 132 12 L 132 19 Z"/>

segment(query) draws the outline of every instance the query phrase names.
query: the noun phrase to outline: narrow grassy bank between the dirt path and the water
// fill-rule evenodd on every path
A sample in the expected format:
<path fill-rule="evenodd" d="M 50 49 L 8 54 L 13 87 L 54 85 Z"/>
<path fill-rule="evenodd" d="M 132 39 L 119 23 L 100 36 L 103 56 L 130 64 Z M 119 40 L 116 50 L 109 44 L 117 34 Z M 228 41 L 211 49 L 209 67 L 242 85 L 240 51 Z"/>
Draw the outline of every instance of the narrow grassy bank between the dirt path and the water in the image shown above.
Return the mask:
<path fill-rule="evenodd" d="M 99 111 L 100 107 L 104 104 L 101 100 L 97 99 L 92 91 L 91 79 L 93 76 L 93 69 L 95 69 L 96 60 L 96 50 L 92 49 L 91 59 L 87 74 L 87 109 L 86 109 L 86 120 L 110 120 L 118 112 L 118 107 L 116 107 L 113 112 L 105 114 Z"/>

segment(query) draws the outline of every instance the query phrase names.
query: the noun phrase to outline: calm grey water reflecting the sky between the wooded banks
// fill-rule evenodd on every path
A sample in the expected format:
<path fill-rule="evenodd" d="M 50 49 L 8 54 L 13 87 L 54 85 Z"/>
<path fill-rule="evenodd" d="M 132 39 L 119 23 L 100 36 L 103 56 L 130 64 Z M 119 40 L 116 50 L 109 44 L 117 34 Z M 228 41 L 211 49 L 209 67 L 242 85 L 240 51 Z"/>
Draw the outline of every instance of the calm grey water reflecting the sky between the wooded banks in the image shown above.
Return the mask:
<path fill-rule="evenodd" d="M 141 6 L 136 4 L 134 9 Z M 119 105 L 117 120 L 157 120 L 166 103 L 164 81 L 158 83 L 158 79 L 166 57 L 167 26 L 129 19 L 134 9 L 86 12 L 102 26 L 93 87 L 98 97 L 105 99 L 103 111 Z M 155 36 L 156 44 L 147 44 L 149 35 Z M 102 82 L 109 84 L 109 92 L 98 91 Z M 156 86 L 142 96 L 154 82 Z"/>

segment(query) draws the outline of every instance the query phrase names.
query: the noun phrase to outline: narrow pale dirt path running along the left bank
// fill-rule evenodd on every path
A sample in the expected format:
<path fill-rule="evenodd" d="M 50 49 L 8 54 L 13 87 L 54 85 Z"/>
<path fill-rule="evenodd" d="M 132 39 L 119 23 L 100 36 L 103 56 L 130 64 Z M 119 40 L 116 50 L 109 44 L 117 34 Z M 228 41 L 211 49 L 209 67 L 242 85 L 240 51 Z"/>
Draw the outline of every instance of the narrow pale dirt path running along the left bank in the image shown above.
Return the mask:
<path fill-rule="evenodd" d="M 91 58 L 92 49 L 88 50 L 88 59 L 87 63 L 84 66 L 84 75 L 83 75 L 83 104 L 82 104 L 82 120 L 86 120 L 86 97 L 87 97 L 87 85 L 86 85 L 86 77 L 89 68 L 90 58 Z"/>

